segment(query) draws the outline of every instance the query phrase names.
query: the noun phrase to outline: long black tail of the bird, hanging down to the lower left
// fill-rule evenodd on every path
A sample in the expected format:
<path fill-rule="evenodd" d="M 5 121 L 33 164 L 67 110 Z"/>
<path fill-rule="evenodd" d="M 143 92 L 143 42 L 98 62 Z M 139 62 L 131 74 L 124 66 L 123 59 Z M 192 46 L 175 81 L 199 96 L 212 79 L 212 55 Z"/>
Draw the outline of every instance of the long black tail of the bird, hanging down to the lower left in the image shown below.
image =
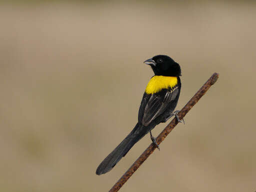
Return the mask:
<path fill-rule="evenodd" d="M 143 126 L 136 124 L 133 130 L 124 138 L 124 140 L 99 164 L 96 174 L 101 175 L 109 172 L 115 164 L 137 143 L 145 134 L 147 134 L 154 126 Z"/>

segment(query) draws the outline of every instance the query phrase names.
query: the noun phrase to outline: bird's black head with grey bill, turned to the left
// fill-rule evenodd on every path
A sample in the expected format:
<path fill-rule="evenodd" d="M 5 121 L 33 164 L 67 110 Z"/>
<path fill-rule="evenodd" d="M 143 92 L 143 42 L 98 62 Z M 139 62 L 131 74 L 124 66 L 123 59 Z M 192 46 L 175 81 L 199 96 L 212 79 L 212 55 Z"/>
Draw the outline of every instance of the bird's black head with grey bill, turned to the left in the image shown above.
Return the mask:
<path fill-rule="evenodd" d="M 156 55 L 144 63 L 151 66 L 155 75 L 181 76 L 179 64 L 167 55 Z"/>

